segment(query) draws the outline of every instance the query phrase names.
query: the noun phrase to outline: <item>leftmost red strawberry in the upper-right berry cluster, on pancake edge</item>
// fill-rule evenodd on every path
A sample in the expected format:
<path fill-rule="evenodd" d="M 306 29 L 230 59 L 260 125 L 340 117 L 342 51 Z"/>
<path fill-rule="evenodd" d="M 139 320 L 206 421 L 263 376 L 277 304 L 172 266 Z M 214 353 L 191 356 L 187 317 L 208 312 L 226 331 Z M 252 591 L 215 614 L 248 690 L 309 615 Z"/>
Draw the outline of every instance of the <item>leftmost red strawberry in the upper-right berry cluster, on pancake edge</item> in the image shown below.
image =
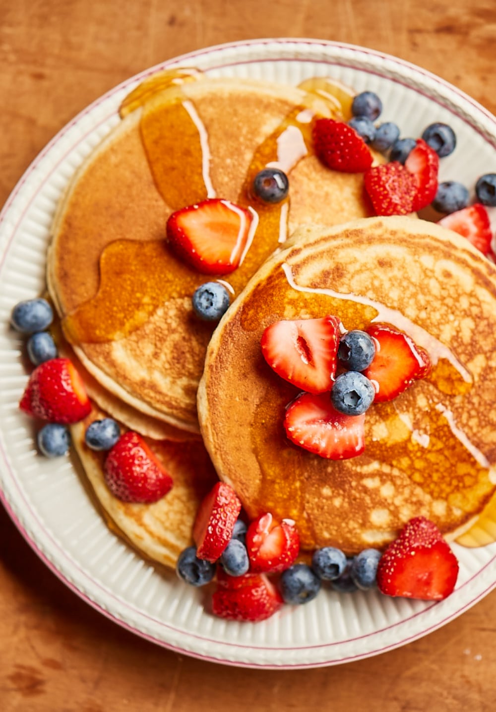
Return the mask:
<path fill-rule="evenodd" d="M 363 173 L 372 154 L 358 133 L 341 121 L 316 119 L 312 128 L 316 155 L 327 167 L 344 173 Z"/>

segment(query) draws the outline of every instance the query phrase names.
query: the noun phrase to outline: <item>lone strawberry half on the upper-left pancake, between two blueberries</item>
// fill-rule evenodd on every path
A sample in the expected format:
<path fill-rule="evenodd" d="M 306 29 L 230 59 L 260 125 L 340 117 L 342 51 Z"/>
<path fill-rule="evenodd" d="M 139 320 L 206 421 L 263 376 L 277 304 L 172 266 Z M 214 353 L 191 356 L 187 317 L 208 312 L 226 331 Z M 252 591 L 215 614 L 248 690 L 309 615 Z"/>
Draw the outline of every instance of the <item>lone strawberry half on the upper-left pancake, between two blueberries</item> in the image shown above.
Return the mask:
<path fill-rule="evenodd" d="M 252 219 L 249 210 L 212 198 L 172 213 L 167 239 L 177 256 L 199 272 L 227 274 L 242 260 Z"/>

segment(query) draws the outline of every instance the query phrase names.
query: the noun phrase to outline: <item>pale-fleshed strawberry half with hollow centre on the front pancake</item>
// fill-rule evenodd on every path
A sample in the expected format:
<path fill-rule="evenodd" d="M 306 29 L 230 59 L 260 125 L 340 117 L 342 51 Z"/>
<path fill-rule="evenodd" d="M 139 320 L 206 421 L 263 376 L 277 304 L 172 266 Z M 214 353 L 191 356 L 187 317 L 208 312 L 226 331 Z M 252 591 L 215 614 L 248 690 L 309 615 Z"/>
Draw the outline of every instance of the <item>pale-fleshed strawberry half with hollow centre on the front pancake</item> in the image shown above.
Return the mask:
<path fill-rule="evenodd" d="M 267 327 L 260 345 L 269 366 L 286 381 L 309 393 L 330 391 L 336 373 L 340 321 L 277 321 Z"/>

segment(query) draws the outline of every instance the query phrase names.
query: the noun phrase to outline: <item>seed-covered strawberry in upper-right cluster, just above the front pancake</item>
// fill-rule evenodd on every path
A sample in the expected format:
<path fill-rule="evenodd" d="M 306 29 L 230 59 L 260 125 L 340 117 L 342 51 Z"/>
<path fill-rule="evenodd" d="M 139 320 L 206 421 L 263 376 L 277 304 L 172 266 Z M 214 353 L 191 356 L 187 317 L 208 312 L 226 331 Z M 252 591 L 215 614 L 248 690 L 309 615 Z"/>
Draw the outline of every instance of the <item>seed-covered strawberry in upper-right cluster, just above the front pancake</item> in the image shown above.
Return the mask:
<path fill-rule="evenodd" d="M 417 194 L 415 177 L 398 161 L 368 169 L 363 176 L 376 215 L 408 215 Z"/>

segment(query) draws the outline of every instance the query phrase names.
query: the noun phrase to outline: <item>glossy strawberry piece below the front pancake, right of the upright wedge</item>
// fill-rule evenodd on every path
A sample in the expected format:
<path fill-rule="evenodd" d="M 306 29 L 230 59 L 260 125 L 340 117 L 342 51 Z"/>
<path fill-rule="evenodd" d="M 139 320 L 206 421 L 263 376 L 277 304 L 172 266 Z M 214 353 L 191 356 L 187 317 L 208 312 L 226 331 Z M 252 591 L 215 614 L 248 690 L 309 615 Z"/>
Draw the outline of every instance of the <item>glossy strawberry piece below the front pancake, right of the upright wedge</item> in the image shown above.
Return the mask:
<path fill-rule="evenodd" d="M 279 522 L 262 514 L 249 525 L 246 545 L 251 572 L 284 571 L 298 556 L 299 534 L 292 519 Z"/>

